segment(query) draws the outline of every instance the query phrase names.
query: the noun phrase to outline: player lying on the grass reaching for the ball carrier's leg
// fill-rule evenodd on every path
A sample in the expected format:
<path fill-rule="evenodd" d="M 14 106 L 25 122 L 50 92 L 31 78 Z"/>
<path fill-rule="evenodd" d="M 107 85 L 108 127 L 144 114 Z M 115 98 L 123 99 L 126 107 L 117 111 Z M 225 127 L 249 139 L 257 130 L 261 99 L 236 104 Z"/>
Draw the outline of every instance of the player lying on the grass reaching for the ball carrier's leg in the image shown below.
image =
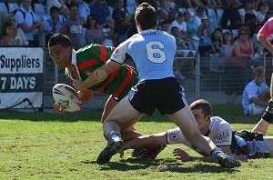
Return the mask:
<path fill-rule="evenodd" d="M 272 122 L 261 121 L 252 129 L 252 133 L 248 131 L 234 132 L 232 127 L 219 116 L 211 116 L 211 105 L 204 99 L 199 99 L 190 105 L 191 111 L 196 118 L 199 131 L 202 135 L 208 136 L 218 148 L 224 153 L 233 157 L 250 157 L 264 158 L 273 156 L 273 136 L 263 136 L 256 131 L 258 129 L 267 132 L 268 125 Z M 262 123 L 261 123 L 262 122 Z M 125 149 L 137 148 L 143 145 L 172 145 L 182 143 L 192 147 L 182 134 L 179 127 L 169 129 L 167 132 L 156 135 L 143 135 L 134 140 L 125 143 Z M 194 149 L 201 153 L 198 149 Z M 205 160 L 211 161 L 211 156 L 191 157 L 180 148 L 175 149 L 175 154 L 182 161 Z"/>

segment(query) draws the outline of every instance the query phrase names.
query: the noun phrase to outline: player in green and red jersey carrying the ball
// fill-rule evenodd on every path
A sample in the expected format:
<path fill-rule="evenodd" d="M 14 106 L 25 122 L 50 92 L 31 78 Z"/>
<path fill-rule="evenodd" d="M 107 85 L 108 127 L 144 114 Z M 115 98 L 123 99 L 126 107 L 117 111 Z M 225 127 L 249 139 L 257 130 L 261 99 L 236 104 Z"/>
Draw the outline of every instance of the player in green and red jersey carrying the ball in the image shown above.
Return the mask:
<path fill-rule="evenodd" d="M 105 65 L 106 59 L 112 55 L 115 49 L 110 46 L 91 44 L 75 51 L 71 46 L 69 37 L 62 34 L 52 35 L 48 42 L 48 48 L 56 64 L 60 68 L 66 68 L 66 75 L 72 82 L 76 79 L 86 80 L 97 68 Z M 136 82 L 137 73 L 135 68 L 130 65 L 122 65 L 98 85 L 78 91 L 78 95 L 83 104 L 86 104 L 93 97 L 94 91 L 110 95 L 106 101 L 102 115 L 102 122 L 104 122 L 113 107 L 120 99 L 128 94 L 130 88 L 136 85 Z M 56 103 L 54 108 L 57 113 L 65 112 L 65 110 Z M 121 134 L 126 140 L 141 135 L 132 125 L 126 129 L 122 129 Z M 149 146 L 148 148 L 149 152 L 153 154 L 162 147 Z"/>

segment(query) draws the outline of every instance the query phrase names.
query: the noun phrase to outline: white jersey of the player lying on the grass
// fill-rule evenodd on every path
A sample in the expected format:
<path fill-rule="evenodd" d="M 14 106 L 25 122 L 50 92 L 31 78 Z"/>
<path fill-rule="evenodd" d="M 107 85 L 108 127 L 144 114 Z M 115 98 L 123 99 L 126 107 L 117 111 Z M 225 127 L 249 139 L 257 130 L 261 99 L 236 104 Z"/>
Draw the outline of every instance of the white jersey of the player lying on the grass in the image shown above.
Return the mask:
<path fill-rule="evenodd" d="M 232 132 L 233 129 L 227 121 L 219 116 L 213 116 L 210 118 L 209 132 L 206 136 L 208 136 L 215 145 L 225 146 L 231 145 Z M 167 144 L 181 143 L 192 148 L 192 145 L 187 141 L 179 127 L 167 131 Z"/>

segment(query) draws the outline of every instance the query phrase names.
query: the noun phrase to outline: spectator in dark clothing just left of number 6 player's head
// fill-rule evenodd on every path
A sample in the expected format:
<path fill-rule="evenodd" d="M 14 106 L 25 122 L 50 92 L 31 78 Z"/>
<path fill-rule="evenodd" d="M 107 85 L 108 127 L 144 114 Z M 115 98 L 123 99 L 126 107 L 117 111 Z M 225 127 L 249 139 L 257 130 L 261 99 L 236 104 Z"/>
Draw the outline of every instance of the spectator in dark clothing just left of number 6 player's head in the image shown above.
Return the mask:
<path fill-rule="evenodd" d="M 118 35 L 118 44 L 137 33 L 134 15 L 131 15 L 124 5 L 124 0 L 116 0 L 116 7 L 112 17 L 115 22 L 115 32 Z"/>

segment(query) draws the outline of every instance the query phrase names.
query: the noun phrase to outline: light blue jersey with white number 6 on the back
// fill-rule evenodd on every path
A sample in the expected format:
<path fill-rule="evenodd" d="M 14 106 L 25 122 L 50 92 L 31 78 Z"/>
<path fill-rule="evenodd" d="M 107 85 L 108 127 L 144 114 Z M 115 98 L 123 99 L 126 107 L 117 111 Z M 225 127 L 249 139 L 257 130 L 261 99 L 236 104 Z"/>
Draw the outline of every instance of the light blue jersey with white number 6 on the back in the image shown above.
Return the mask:
<path fill-rule="evenodd" d="M 116 47 L 111 60 L 123 64 L 126 54 L 133 59 L 138 81 L 174 77 L 173 62 L 177 52 L 176 39 L 166 32 L 146 30 L 133 35 Z"/>

